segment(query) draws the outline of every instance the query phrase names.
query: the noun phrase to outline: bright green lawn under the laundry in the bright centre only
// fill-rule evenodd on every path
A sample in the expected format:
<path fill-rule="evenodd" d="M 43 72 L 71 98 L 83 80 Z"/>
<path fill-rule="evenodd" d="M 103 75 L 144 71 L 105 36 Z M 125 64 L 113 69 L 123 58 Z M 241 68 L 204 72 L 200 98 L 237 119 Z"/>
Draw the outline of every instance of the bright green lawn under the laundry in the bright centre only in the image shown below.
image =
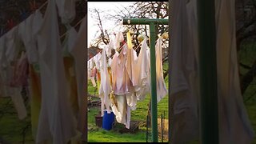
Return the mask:
<path fill-rule="evenodd" d="M 164 69 L 167 66 L 168 63 L 165 63 L 163 66 Z M 165 81 L 166 88 L 168 89 L 168 76 L 165 78 Z M 91 85 L 90 81 L 88 82 L 88 92 L 90 94 L 94 94 L 95 92 L 95 88 Z M 146 142 L 146 116 L 149 103 L 150 95 L 147 95 L 145 100 L 137 103 L 136 110 L 131 111 L 131 121 L 142 123 L 139 126 L 138 132 L 135 134 L 120 134 L 117 130 L 103 130 L 102 128 L 98 128 L 95 124 L 95 115 L 100 111 L 100 107 L 90 108 L 90 112 L 88 112 L 88 142 Z M 168 119 L 168 94 L 158 102 L 158 118 L 161 118 L 161 114 Z M 150 128 L 149 133 L 151 133 Z M 158 142 L 161 142 L 162 139 L 159 130 L 158 133 Z M 151 135 L 149 135 L 148 142 L 151 142 Z M 163 142 L 167 142 L 167 139 L 164 138 Z"/>

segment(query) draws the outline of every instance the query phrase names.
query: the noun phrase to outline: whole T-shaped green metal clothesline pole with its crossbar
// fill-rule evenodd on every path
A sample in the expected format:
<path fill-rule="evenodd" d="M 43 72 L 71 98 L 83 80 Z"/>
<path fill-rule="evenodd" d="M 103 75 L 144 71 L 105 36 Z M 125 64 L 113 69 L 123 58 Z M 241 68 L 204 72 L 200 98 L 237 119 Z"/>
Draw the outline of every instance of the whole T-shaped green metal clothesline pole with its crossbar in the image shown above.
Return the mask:
<path fill-rule="evenodd" d="M 152 142 L 158 142 L 158 101 L 155 63 L 155 25 L 168 25 L 168 19 L 123 18 L 123 25 L 150 25 L 150 82 Z"/>

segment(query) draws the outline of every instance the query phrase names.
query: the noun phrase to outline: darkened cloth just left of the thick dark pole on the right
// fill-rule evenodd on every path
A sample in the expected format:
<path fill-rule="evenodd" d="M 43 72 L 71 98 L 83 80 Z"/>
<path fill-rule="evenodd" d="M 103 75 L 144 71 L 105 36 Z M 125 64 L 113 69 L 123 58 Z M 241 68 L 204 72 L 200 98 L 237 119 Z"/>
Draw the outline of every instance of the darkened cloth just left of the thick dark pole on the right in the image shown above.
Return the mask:
<path fill-rule="evenodd" d="M 187 2 L 173 2 L 173 47 L 170 53 L 170 113 L 173 123 L 171 142 L 186 143 L 198 138 L 198 65 L 194 59 L 194 42 L 188 28 Z M 192 26 L 191 26 L 192 27 Z M 197 26 L 193 25 L 193 28 Z M 192 50 L 192 51 L 191 51 Z M 191 56 L 192 55 L 192 56 Z"/>

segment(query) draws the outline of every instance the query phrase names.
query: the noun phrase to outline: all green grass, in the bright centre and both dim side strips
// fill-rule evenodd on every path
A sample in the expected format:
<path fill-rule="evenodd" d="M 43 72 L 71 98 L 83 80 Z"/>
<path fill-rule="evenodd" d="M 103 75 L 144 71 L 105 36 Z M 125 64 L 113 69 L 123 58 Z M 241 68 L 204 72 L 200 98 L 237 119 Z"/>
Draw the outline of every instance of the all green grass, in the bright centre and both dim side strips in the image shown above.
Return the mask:
<path fill-rule="evenodd" d="M 256 55 L 255 53 L 251 53 L 249 50 L 242 54 L 238 54 L 239 57 L 246 57 L 248 54 L 253 57 Z M 248 57 L 243 63 L 247 65 L 252 64 L 252 60 Z M 166 64 L 165 66 L 166 67 Z M 243 70 L 241 68 L 241 70 Z M 246 70 L 242 71 L 242 74 L 245 74 Z M 168 77 L 166 80 L 166 86 L 168 87 Z M 254 82 L 256 83 L 256 78 L 254 78 Z M 95 88 L 91 86 L 91 82 L 88 82 L 88 91 L 90 94 L 94 94 Z M 254 128 L 254 132 L 256 132 L 256 95 L 255 95 L 256 85 L 253 84 L 248 87 L 246 93 L 244 94 L 244 102 L 246 106 L 247 113 L 250 118 L 250 122 Z M 97 94 L 97 92 L 96 92 Z M 142 102 L 138 102 L 137 109 L 131 112 L 131 120 L 137 120 L 140 122 L 146 122 L 146 114 L 147 114 L 147 105 L 150 102 L 150 95 L 146 97 L 146 99 Z M 135 134 L 120 134 L 116 130 L 102 130 L 95 126 L 94 116 L 98 114 L 100 111 L 99 107 L 90 108 L 90 112 L 88 112 L 88 141 L 89 142 L 146 142 L 146 127 L 140 126 L 139 130 Z M 165 117 L 168 118 L 168 96 L 162 99 L 161 102 L 158 103 L 158 117 L 163 114 L 165 111 Z M 28 113 L 30 114 L 29 106 Z M 29 126 L 29 127 L 26 127 Z M 151 131 L 149 131 L 151 132 Z M 25 136 L 23 138 L 23 134 Z M 148 142 L 150 142 L 151 137 L 149 137 Z M 0 141 L 4 139 L 9 143 L 22 143 L 23 139 L 26 144 L 33 144 L 34 140 L 31 136 L 31 127 L 30 127 L 30 116 L 25 118 L 24 120 L 19 120 L 16 111 L 14 110 L 14 106 L 10 101 L 10 98 L 0 98 Z M 158 138 L 158 141 L 161 141 L 161 138 Z M 1 143 L 1 142 L 0 142 Z M 190 144 L 198 144 L 198 141 L 190 142 Z M 254 137 L 253 144 L 256 144 L 256 137 Z"/>

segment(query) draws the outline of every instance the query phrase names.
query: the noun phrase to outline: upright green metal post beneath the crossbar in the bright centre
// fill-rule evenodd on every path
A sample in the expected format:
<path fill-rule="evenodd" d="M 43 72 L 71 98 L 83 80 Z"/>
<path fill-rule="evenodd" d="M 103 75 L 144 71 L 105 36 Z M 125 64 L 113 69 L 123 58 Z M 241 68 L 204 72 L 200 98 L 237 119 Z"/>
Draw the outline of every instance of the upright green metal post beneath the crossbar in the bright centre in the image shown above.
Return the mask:
<path fill-rule="evenodd" d="M 155 27 L 150 22 L 150 78 L 151 78 L 151 119 L 152 119 L 152 142 L 158 142 L 158 101 L 156 85 L 155 63 Z"/>

